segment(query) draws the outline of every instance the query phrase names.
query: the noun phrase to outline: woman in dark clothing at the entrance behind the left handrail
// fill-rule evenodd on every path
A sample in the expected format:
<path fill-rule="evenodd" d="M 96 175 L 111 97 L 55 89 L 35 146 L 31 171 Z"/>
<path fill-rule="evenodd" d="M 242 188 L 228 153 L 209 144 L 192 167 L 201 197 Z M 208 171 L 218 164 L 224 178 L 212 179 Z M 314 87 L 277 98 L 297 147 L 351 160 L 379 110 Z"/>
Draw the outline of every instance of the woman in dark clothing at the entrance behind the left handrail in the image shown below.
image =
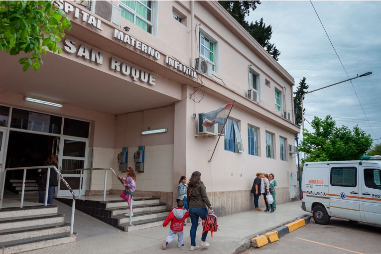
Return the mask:
<path fill-rule="evenodd" d="M 43 166 L 56 166 L 58 168 L 57 160 L 54 154 L 48 156 L 47 161 L 44 162 Z M 41 179 L 38 182 L 38 203 L 45 203 L 44 190 L 46 189 L 46 180 L 48 176 L 48 169 L 41 169 Z M 54 189 L 58 186 L 58 177 L 57 172 L 54 168 L 50 168 L 50 177 L 49 177 L 49 192 L 48 192 L 48 205 L 51 205 L 53 202 Z"/>

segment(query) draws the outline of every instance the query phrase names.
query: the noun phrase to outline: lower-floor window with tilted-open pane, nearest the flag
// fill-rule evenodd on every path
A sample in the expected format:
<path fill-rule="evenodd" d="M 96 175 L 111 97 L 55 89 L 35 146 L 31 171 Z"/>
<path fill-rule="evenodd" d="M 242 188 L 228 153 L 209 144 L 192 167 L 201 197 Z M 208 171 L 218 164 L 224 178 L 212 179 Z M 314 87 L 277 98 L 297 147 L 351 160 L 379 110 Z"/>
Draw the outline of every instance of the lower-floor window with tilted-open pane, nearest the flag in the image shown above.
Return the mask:
<path fill-rule="evenodd" d="M 225 151 L 244 152 L 238 121 L 228 118 L 225 125 Z"/>

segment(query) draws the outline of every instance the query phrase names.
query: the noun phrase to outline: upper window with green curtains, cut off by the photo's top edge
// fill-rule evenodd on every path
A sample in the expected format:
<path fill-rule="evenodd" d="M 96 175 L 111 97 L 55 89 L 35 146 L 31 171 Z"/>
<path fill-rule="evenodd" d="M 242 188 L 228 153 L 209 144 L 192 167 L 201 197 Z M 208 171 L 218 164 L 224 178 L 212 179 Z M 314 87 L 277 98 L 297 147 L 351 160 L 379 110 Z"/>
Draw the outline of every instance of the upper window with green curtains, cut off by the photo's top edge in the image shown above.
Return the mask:
<path fill-rule="evenodd" d="M 122 10 L 122 17 L 143 28 L 147 32 L 152 33 L 153 1 L 120 0 L 119 6 Z"/>

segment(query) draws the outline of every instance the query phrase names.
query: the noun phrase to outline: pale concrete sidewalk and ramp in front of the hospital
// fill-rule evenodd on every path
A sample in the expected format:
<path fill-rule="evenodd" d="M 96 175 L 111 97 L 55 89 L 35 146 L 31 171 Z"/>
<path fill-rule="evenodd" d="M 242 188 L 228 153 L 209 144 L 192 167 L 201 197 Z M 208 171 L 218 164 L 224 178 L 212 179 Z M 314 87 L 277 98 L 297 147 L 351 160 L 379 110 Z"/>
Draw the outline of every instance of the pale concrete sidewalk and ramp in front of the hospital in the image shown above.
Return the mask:
<path fill-rule="evenodd" d="M 54 204 L 54 203 L 53 203 Z M 59 203 L 61 209 L 64 207 Z M 301 201 L 278 205 L 276 212 L 243 212 L 218 218 L 220 231 L 214 233 L 213 238 L 208 234 L 209 247 L 201 247 L 191 252 L 190 226 L 184 227 L 184 247 L 177 248 L 177 237 L 161 250 L 161 244 L 169 232 L 169 226 L 154 227 L 133 232 L 122 232 L 97 219 L 76 210 L 74 232 L 79 233 L 75 243 L 52 246 L 44 249 L 26 252 L 27 254 L 156 254 L 156 253 L 235 253 L 251 236 L 262 231 L 275 228 L 295 218 L 308 213 L 301 209 Z M 66 214 L 70 220 L 70 213 Z M 68 216 L 69 215 L 69 216 Z M 89 218 L 90 217 L 90 218 Z M 95 220 L 94 223 L 91 221 Z M 82 225 L 81 225 L 82 224 Z M 84 224 L 86 226 L 84 227 Z M 81 227 L 82 226 L 82 227 Z M 201 223 L 197 229 L 196 244 L 201 243 Z M 81 236 L 82 235 L 82 236 Z"/>

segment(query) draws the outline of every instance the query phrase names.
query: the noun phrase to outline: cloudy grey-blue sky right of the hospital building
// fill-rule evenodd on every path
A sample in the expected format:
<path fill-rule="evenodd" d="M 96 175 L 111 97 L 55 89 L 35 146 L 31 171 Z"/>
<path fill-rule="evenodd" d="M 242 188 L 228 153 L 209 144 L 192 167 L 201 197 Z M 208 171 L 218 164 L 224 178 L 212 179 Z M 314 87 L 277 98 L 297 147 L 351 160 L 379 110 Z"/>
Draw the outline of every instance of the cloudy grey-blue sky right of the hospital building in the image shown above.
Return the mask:
<path fill-rule="evenodd" d="M 331 115 L 336 126 L 358 125 L 372 139 L 381 138 L 381 1 L 312 3 L 349 78 L 373 74 L 305 95 L 305 119 Z M 272 26 L 270 42 L 295 80 L 294 91 L 303 77 L 308 91 L 349 79 L 310 1 L 261 1 L 247 20 L 261 17 Z M 304 127 L 313 131 L 307 121 Z"/>

